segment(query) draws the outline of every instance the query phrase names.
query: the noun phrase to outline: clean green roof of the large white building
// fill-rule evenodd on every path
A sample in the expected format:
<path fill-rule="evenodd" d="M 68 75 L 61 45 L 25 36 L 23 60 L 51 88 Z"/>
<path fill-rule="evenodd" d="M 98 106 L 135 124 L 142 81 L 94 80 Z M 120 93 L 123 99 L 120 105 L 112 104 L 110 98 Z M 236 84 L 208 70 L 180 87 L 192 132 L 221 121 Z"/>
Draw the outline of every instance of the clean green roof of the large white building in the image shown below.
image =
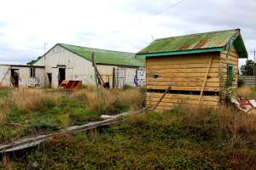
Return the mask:
<path fill-rule="evenodd" d="M 65 43 L 59 43 L 63 48 L 68 51 L 78 54 L 84 59 L 91 61 L 91 54 L 96 56 L 97 64 L 104 65 L 127 65 L 127 66 L 145 66 L 144 59 L 135 58 L 135 54 L 127 52 L 112 51 L 106 49 L 86 48 L 81 46 L 75 46 Z"/>

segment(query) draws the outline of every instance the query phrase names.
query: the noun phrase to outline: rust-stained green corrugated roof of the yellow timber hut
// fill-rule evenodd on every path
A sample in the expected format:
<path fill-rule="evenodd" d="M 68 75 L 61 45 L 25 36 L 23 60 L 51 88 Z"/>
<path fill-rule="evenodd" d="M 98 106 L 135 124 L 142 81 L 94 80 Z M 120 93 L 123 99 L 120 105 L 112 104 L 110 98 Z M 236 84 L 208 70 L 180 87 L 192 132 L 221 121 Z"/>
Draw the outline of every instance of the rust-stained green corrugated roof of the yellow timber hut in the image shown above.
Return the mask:
<path fill-rule="evenodd" d="M 235 38 L 234 44 L 240 57 L 247 57 L 247 50 L 242 41 L 240 29 L 212 31 L 179 37 L 160 38 L 137 53 L 137 56 L 158 56 L 162 54 L 193 54 L 207 51 L 225 50 L 229 42 Z M 154 55 L 155 54 L 155 55 Z"/>

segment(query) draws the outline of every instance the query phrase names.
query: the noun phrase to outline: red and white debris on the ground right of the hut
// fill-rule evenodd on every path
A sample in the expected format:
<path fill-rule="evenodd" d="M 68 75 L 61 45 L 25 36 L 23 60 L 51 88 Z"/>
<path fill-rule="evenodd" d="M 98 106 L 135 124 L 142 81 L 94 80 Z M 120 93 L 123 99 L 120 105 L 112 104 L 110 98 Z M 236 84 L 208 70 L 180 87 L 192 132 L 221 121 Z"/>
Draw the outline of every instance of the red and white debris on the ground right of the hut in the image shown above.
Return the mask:
<path fill-rule="evenodd" d="M 256 113 L 256 100 L 255 99 L 232 97 L 231 102 L 233 104 L 235 104 L 239 110 L 241 110 L 247 114 Z"/>

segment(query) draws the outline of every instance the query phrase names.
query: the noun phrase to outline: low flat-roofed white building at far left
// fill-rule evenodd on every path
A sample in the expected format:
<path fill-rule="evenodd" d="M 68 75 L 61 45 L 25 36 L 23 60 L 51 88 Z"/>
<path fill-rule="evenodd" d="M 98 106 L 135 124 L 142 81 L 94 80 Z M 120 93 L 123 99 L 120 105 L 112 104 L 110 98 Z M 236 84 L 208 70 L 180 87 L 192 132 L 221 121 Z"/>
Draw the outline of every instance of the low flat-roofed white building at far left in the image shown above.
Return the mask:
<path fill-rule="evenodd" d="M 44 87 L 44 66 L 0 65 L 0 86 Z"/>

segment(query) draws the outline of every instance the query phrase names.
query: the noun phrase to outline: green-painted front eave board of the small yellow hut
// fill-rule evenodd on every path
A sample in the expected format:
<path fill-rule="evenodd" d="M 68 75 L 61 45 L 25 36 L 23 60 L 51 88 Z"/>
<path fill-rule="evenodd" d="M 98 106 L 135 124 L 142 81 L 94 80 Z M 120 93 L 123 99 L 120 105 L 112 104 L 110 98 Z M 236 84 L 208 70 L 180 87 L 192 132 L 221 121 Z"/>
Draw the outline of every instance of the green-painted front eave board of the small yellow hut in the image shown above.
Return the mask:
<path fill-rule="evenodd" d="M 210 53 L 210 52 L 221 52 L 224 47 L 220 48 L 202 48 L 202 49 L 190 49 L 183 51 L 172 51 L 172 52 L 160 52 L 160 53 L 149 53 L 149 54 L 136 54 L 137 57 L 157 57 L 157 56 L 167 56 L 167 55 L 182 55 L 182 54 L 200 54 L 200 53 Z"/>

